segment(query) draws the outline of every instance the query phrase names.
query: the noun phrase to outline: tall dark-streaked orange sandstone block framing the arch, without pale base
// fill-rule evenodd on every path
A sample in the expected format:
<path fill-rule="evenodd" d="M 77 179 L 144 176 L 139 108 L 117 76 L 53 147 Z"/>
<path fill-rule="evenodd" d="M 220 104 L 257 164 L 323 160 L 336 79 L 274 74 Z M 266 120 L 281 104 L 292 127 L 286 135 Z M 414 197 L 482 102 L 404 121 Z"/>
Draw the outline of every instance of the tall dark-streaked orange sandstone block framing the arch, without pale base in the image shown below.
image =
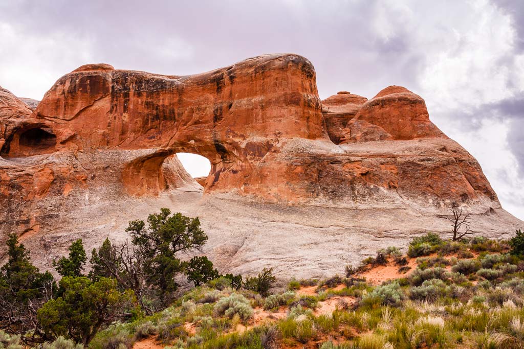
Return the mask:
<path fill-rule="evenodd" d="M 211 161 L 206 190 L 259 188 L 272 143 L 325 134 L 313 66 L 293 54 L 190 76 L 86 65 L 60 78 L 34 117 L 68 135 L 59 136 L 61 150 L 156 149 L 124 165 L 124 185 L 133 195 L 158 193 L 162 159 L 177 152 Z"/>

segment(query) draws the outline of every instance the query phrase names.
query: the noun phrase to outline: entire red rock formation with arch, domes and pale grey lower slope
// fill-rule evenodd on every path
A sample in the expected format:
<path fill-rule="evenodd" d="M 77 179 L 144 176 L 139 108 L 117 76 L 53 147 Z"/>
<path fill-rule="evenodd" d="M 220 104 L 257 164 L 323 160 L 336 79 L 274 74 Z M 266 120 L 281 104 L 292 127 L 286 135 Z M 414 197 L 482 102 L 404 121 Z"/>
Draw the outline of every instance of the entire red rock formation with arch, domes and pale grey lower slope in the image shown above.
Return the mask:
<path fill-rule="evenodd" d="M 84 65 L 35 110 L 0 89 L 0 149 L 0 254 L 14 231 L 42 267 L 79 237 L 88 250 L 124 240 L 127 221 L 160 207 L 201 218 L 221 271 L 304 277 L 445 232 L 453 203 L 476 232 L 522 227 L 420 96 L 321 102 L 294 54 L 189 76 Z M 191 178 L 178 152 L 207 157 L 209 176 Z"/>

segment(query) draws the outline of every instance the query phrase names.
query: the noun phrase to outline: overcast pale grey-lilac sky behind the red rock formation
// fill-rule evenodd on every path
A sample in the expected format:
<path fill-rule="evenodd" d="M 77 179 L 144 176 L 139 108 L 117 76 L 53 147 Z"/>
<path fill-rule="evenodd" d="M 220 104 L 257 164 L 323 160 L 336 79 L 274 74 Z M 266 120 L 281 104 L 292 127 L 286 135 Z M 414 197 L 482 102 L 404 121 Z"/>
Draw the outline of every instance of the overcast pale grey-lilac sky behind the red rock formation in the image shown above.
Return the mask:
<path fill-rule="evenodd" d="M 321 98 L 421 95 L 524 219 L 524 1 L 0 0 L 0 85 L 21 97 L 86 63 L 183 75 L 274 52 L 307 57 Z"/>

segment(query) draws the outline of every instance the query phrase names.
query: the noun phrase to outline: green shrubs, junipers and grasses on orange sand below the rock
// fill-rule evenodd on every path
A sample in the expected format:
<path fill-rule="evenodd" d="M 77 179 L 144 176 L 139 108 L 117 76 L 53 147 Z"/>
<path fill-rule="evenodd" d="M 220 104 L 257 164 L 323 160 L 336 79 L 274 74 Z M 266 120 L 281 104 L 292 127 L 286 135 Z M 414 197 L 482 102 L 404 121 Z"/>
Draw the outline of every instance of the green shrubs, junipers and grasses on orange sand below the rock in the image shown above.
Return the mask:
<path fill-rule="evenodd" d="M 524 233 L 508 241 L 414 238 L 403 254 L 377 251 L 345 275 L 290 280 L 271 269 L 221 275 L 205 256 L 198 219 L 169 210 L 129 223 L 132 240 L 104 241 L 87 257 L 81 240 L 54 263 L 32 266 L 12 235 L 0 277 L 0 348 L 521 348 Z M 389 268 L 392 276 L 377 278 Z M 388 269 L 388 270 L 389 270 Z M 195 287 L 181 292 L 181 278 Z"/>

